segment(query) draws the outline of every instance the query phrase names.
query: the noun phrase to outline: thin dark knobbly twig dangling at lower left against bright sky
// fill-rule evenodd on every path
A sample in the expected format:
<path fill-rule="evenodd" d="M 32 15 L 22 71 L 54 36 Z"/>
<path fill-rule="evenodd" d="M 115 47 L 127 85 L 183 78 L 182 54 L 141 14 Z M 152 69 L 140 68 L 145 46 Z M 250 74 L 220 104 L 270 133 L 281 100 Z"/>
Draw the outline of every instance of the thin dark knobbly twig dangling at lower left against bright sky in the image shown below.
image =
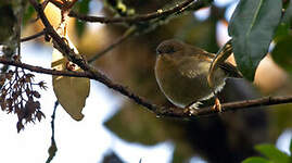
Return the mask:
<path fill-rule="evenodd" d="M 59 105 L 59 102 L 55 101 L 54 102 L 53 113 L 52 113 L 52 116 L 51 116 L 52 117 L 52 121 L 51 121 L 51 128 L 52 128 L 51 146 L 50 146 L 50 148 L 48 150 L 49 158 L 47 159 L 46 163 L 50 163 L 53 160 L 53 158 L 54 158 L 54 155 L 55 155 L 55 153 L 58 151 L 55 140 L 54 140 L 54 118 L 55 118 L 55 111 L 56 111 L 58 105 Z"/>

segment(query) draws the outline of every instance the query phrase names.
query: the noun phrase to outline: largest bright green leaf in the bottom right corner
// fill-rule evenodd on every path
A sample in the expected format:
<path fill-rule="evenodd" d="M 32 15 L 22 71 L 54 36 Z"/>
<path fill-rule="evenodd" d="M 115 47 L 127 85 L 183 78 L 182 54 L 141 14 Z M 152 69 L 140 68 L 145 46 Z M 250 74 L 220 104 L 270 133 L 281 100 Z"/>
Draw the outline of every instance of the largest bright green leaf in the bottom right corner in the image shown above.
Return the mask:
<path fill-rule="evenodd" d="M 258 145 L 255 149 L 275 163 L 289 163 L 290 158 L 274 145 Z"/>

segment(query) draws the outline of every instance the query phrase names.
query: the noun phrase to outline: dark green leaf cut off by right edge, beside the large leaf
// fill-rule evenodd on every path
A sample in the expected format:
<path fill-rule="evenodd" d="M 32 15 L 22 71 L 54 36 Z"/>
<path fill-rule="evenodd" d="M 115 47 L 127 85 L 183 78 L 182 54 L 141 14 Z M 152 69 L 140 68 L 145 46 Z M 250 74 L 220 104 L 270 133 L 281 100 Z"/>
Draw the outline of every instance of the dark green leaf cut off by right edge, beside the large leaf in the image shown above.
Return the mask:
<path fill-rule="evenodd" d="M 274 61 L 292 74 L 292 36 L 281 38 L 271 51 Z"/>

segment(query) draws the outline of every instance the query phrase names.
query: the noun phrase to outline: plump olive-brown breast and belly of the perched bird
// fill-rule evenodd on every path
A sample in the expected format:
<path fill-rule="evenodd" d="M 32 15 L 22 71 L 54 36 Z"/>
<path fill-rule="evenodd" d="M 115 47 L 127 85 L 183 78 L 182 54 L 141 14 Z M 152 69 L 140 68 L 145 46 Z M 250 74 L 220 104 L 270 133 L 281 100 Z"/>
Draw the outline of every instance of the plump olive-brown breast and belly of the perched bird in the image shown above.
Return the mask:
<path fill-rule="evenodd" d="M 185 108 L 213 96 L 206 79 L 210 63 L 195 63 L 198 64 L 189 64 L 186 61 L 181 64 L 161 57 L 156 60 L 155 76 L 158 86 L 166 98 L 177 106 Z M 224 79 L 221 83 L 224 84 Z"/>

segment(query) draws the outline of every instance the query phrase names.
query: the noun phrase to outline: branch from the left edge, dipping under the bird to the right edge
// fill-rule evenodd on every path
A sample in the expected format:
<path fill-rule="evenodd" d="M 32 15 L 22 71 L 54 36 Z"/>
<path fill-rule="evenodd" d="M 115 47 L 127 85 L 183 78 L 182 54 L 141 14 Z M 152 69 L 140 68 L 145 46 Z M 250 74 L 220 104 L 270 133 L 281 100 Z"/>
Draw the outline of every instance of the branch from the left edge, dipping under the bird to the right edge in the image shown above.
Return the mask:
<path fill-rule="evenodd" d="M 158 116 L 170 116 L 170 117 L 187 117 L 187 118 L 193 118 L 193 117 L 201 117 L 206 115 L 212 115 L 218 113 L 215 110 L 212 110 L 212 106 L 202 108 L 195 111 L 186 111 L 185 109 L 180 108 L 166 108 L 166 106 L 158 106 L 156 104 L 153 104 L 144 98 L 139 97 L 135 95 L 134 92 L 129 91 L 126 87 L 115 84 L 112 80 L 110 80 L 105 75 L 96 75 L 90 74 L 88 72 L 68 72 L 68 71 L 54 71 L 49 68 L 43 68 L 39 66 L 34 66 L 21 62 L 15 61 L 9 61 L 7 59 L 0 58 L 0 63 L 3 64 L 10 64 L 13 66 L 23 67 L 25 70 L 29 70 L 31 72 L 36 73 L 42 73 L 42 74 L 50 74 L 50 75 L 61 75 L 61 76 L 72 76 L 72 77 L 87 77 L 90 79 L 94 79 L 97 82 L 100 82 L 107 86 L 109 88 L 112 88 L 122 95 L 128 97 L 132 101 L 135 101 L 137 104 L 143 105 L 149 111 L 155 113 Z M 292 96 L 287 97 L 265 97 L 254 100 L 244 100 L 244 101 L 237 101 L 237 102 L 228 102 L 221 104 L 221 111 L 223 112 L 229 112 L 229 111 L 236 111 L 236 110 L 243 110 L 247 108 L 255 108 L 255 106 L 264 106 L 264 105 L 275 105 L 275 104 L 283 104 L 283 103 L 291 103 L 292 102 Z"/>

